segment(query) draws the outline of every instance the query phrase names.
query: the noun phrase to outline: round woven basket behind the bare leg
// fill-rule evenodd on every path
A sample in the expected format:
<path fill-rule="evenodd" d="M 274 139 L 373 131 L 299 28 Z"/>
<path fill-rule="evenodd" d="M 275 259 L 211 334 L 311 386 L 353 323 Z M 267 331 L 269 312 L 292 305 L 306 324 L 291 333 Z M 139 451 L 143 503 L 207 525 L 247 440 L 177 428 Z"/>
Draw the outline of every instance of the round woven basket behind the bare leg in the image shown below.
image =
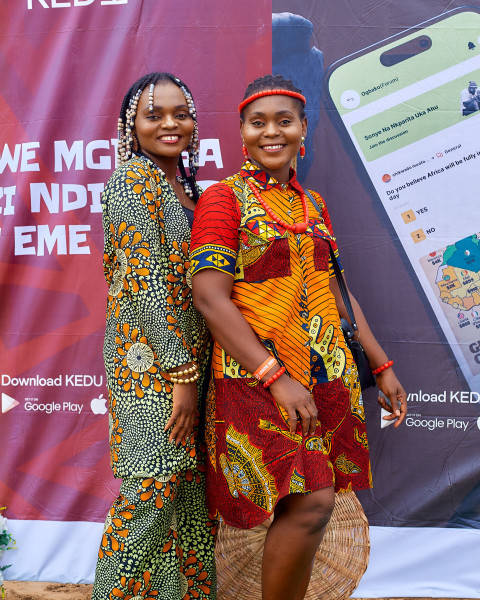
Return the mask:
<path fill-rule="evenodd" d="M 216 549 L 218 600 L 260 600 L 265 535 L 271 518 L 253 529 L 220 524 Z M 368 565 L 368 521 L 355 494 L 336 494 L 335 509 L 317 550 L 307 600 L 343 600 Z"/>

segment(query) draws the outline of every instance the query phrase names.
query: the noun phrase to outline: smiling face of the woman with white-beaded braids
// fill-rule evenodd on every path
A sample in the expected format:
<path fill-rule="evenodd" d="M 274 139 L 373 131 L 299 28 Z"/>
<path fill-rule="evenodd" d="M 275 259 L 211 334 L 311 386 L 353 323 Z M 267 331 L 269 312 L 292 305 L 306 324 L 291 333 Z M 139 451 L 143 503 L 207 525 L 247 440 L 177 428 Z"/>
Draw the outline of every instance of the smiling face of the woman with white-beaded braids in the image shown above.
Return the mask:
<path fill-rule="evenodd" d="M 165 160 L 178 159 L 190 144 L 194 121 L 182 90 L 174 83 L 157 83 L 153 90 L 153 112 L 147 86 L 138 101 L 134 134 L 140 150 L 162 167 Z"/>

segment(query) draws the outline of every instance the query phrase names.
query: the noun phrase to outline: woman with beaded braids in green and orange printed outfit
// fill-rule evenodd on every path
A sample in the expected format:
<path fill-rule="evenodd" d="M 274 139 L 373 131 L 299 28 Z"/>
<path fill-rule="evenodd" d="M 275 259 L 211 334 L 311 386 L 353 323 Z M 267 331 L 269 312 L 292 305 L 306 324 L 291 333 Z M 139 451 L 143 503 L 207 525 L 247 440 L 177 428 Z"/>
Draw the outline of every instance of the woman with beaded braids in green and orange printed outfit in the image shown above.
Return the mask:
<path fill-rule="evenodd" d="M 169 73 L 146 75 L 127 92 L 118 130 L 120 166 L 102 196 L 104 359 L 111 465 L 123 481 L 92 598 L 214 599 L 216 523 L 197 440 L 209 336 L 186 280 L 199 194 L 190 91 Z"/>

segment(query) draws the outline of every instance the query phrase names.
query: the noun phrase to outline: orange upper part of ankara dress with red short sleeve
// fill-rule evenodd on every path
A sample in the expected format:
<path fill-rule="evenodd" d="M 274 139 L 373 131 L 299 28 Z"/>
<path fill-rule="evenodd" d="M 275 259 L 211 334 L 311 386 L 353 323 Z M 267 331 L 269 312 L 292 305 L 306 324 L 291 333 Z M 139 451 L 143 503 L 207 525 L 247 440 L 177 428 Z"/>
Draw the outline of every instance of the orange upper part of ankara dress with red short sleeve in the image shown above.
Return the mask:
<path fill-rule="evenodd" d="M 232 301 L 292 377 L 307 386 L 340 377 L 351 356 L 329 288 L 329 247 L 338 250 L 325 203 L 314 194 L 319 213 L 307 199 L 309 227 L 293 235 L 265 212 L 246 178 L 285 222 L 303 220 L 303 190 L 295 173 L 288 184 L 279 184 L 247 161 L 240 173 L 202 195 L 191 270 L 215 268 L 234 277 Z M 251 376 L 218 345 L 213 369 L 218 378 Z"/>

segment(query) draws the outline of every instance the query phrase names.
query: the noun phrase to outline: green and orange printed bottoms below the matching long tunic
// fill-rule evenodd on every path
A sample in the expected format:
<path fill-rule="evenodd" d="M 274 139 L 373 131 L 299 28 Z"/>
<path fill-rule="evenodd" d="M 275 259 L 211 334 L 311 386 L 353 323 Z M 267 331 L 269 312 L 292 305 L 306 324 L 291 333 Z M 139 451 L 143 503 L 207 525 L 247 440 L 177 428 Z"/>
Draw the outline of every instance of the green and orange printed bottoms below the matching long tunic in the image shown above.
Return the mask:
<path fill-rule="evenodd" d="M 92 600 L 215 600 L 216 531 L 202 465 L 126 479 L 105 521 Z"/>

